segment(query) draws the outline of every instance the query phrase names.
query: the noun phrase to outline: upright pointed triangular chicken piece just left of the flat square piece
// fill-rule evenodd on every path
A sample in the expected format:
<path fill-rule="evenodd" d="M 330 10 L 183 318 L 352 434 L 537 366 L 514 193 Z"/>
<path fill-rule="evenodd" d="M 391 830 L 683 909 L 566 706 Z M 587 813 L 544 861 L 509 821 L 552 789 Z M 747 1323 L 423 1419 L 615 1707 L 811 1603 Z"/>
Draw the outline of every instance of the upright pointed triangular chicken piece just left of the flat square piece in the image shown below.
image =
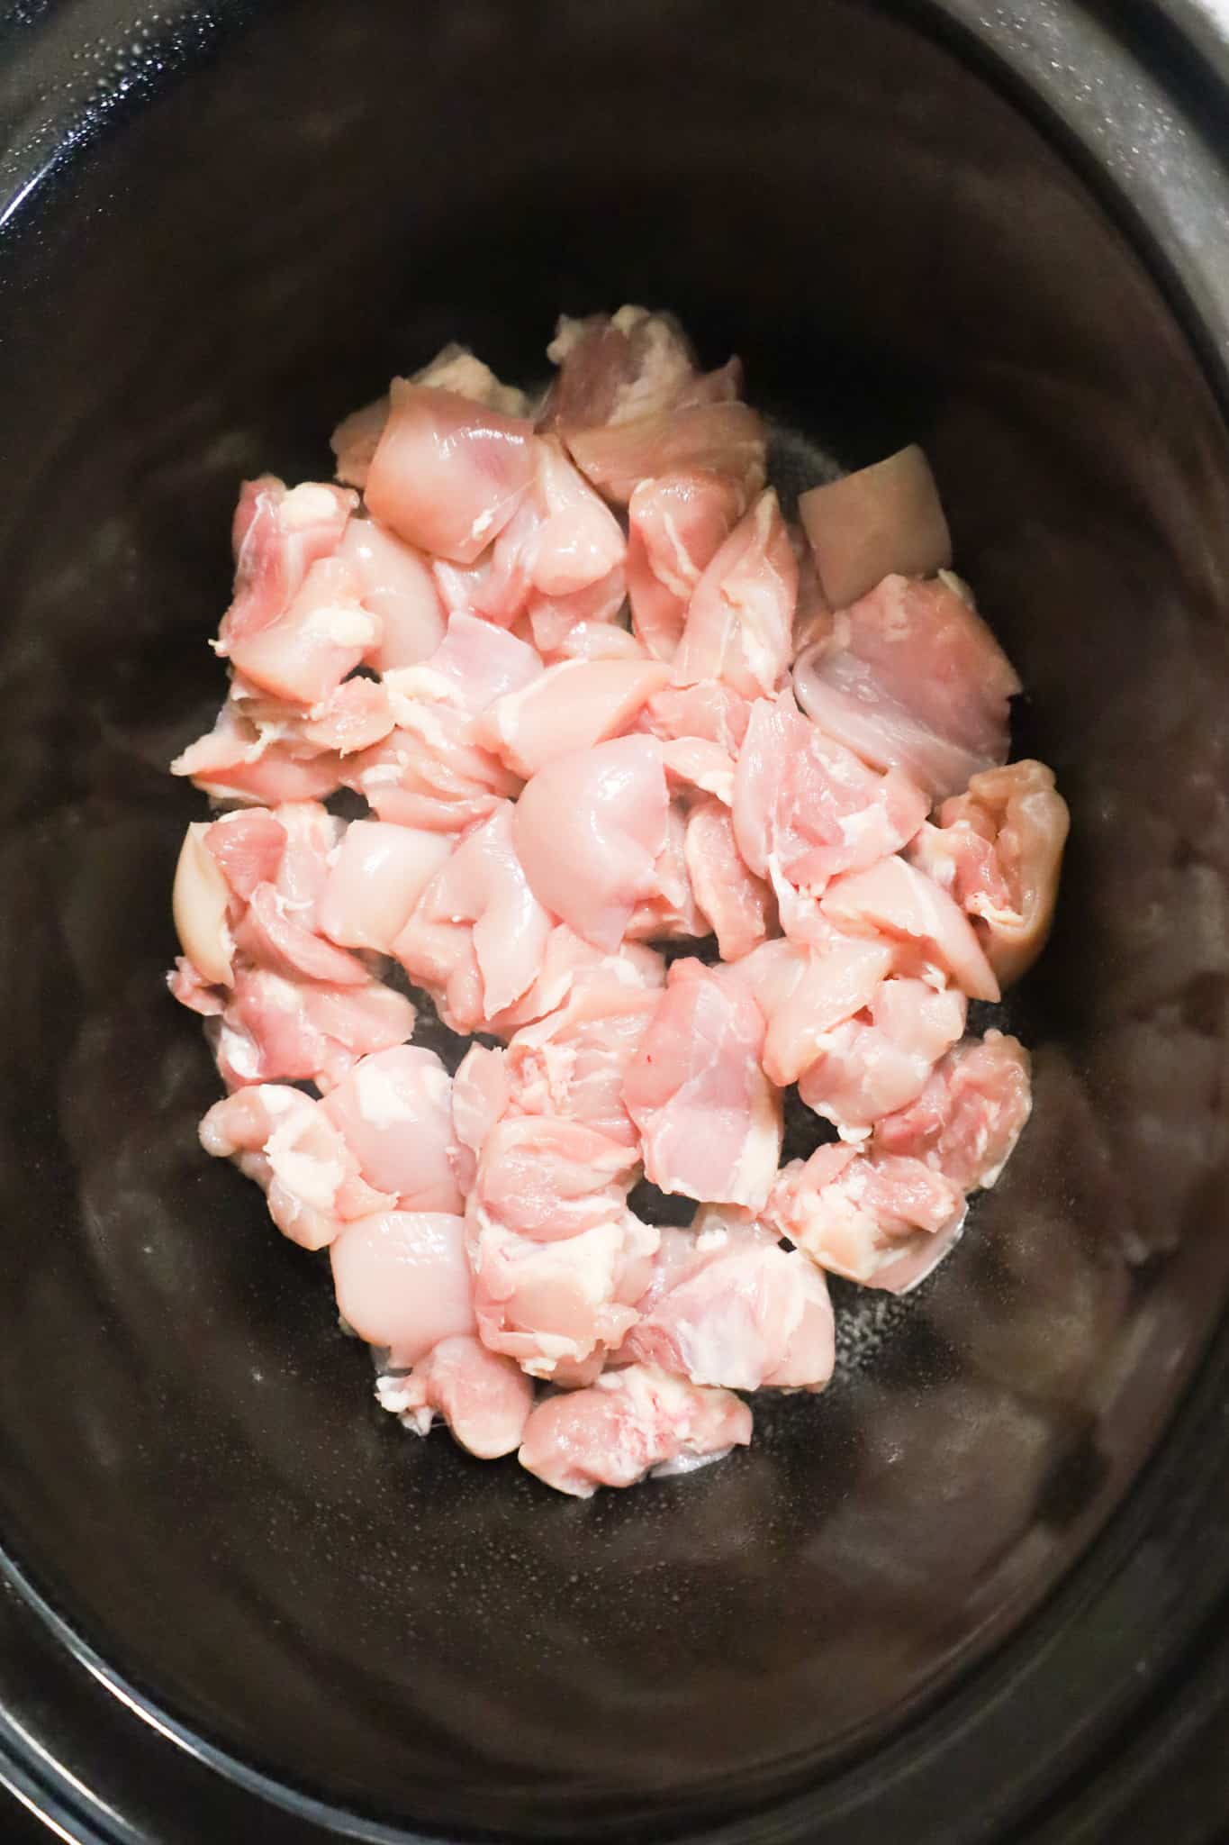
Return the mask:
<path fill-rule="evenodd" d="M 798 563 L 772 489 L 733 528 L 695 587 L 674 683 L 720 679 L 770 694 L 790 662 Z"/>

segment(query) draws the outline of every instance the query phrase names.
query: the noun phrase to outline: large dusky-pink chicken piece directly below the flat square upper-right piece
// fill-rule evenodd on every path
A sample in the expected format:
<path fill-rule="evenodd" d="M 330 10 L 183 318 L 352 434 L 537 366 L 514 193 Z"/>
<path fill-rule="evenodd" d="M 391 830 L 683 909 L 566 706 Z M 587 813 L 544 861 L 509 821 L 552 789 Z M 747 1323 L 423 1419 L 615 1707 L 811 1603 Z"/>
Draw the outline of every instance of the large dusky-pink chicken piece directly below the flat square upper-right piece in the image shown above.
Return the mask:
<path fill-rule="evenodd" d="M 931 803 L 1006 760 L 1015 668 L 962 585 L 888 576 L 837 614 L 794 666 L 798 703 L 877 769 L 903 769 Z"/>

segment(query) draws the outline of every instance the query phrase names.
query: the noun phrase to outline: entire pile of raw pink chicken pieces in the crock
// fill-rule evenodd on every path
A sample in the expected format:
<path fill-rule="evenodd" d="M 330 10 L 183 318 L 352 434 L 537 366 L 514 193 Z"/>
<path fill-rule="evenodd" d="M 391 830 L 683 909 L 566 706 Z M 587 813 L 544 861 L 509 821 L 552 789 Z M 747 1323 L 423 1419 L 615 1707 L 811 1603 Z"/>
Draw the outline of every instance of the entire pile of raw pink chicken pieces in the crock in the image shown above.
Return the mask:
<path fill-rule="evenodd" d="M 341 485 L 243 487 L 171 991 L 205 1148 L 328 1247 L 380 1402 L 590 1494 L 822 1389 L 825 1273 L 951 1249 L 1030 1107 L 967 1004 L 1037 954 L 1067 808 L 1006 764 L 918 448 L 792 520 L 737 362 L 641 308 L 549 358 L 531 404 L 450 347 L 337 428 Z M 820 1144 L 781 1168 L 790 1085 Z"/>

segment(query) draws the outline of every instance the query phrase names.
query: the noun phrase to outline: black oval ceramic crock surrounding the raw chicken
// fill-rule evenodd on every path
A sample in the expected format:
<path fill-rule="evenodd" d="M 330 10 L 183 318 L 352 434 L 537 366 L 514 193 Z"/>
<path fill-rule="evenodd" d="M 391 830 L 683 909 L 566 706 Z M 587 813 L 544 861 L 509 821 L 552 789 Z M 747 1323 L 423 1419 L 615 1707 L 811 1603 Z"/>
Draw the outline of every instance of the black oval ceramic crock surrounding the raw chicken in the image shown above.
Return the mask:
<path fill-rule="evenodd" d="M 0 1780 L 107 1845 L 1223 1836 L 1214 28 L 136 4 L 0 26 Z M 448 338 L 533 376 L 625 299 L 848 465 L 925 443 L 1074 834 L 964 1245 L 750 1452 L 573 1504 L 381 1419 L 201 1157 L 164 764 L 238 480 L 326 470 Z"/>

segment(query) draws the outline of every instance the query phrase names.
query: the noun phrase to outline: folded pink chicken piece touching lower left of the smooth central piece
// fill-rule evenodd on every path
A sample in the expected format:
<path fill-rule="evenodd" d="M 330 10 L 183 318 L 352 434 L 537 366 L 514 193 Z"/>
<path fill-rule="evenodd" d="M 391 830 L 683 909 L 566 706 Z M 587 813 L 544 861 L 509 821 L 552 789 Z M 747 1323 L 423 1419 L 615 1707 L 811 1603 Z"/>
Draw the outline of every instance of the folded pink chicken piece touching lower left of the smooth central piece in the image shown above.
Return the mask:
<path fill-rule="evenodd" d="M 392 954 L 411 980 L 442 993 L 453 1030 L 475 1031 L 533 985 L 551 926 L 501 801 L 431 878 Z"/>

